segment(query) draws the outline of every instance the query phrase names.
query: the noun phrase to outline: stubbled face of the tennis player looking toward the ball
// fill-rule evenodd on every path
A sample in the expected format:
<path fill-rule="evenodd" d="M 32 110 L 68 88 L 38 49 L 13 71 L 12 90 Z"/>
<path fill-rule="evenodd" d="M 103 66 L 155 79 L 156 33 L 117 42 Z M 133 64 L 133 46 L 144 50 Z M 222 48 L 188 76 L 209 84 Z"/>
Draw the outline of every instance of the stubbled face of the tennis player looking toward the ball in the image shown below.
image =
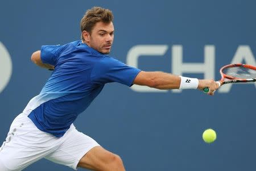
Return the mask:
<path fill-rule="evenodd" d="M 114 25 L 112 22 L 98 22 L 93 27 L 91 34 L 86 31 L 83 34 L 87 34 L 85 35 L 85 40 L 89 47 L 96 49 L 100 53 L 110 53 L 114 40 Z"/>

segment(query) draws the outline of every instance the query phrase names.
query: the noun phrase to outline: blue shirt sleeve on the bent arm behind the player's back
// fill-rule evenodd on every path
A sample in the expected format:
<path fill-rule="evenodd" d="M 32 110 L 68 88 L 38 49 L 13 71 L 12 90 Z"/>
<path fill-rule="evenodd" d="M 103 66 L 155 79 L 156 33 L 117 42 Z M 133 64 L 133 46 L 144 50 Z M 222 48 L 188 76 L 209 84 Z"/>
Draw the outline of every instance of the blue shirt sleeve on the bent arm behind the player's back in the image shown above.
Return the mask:
<path fill-rule="evenodd" d="M 60 56 L 62 45 L 43 45 L 41 47 L 41 60 L 44 64 L 55 65 Z"/>

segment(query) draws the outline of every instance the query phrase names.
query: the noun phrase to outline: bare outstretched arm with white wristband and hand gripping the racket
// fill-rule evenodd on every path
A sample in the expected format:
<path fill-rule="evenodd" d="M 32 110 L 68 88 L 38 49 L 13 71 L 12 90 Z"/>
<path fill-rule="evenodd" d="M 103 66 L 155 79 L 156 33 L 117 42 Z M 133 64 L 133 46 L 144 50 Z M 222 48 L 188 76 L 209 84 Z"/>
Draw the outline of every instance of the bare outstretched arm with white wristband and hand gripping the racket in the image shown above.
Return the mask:
<path fill-rule="evenodd" d="M 145 85 L 149 87 L 154 87 L 156 89 L 168 90 L 168 89 L 204 89 L 209 87 L 209 94 L 213 95 L 214 91 L 218 89 L 217 82 L 213 80 L 198 80 L 195 78 L 186 79 L 191 84 L 184 85 L 186 83 L 181 82 L 181 80 L 186 79 L 186 77 L 175 76 L 174 74 L 164 73 L 164 72 L 144 72 L 141 71 L 137 77 L 134 79 L 134 84 Z M 185 80 L 185 81 L 186 81 Z M 186 87 L 187 86 L 187 87 Z"/>

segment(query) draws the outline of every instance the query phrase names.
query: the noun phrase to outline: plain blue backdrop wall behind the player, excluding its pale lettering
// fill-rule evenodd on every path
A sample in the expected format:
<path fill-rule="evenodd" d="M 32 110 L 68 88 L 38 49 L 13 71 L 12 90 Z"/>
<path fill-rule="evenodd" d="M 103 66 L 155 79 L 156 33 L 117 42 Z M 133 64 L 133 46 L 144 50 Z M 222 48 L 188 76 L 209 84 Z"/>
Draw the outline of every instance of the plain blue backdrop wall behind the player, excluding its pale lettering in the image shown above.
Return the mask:
<path fill-rule="evenodd" d="M 80 19 L 93 6 L 114 13 L 111 55 L 119 60 L 126 62 L 127 52 L 138 44 L 168 45 L 161 59 L 140 58 L 143 70 L 171 72 L 171 47 L 177 44 L 183 45 L 186 62 L 204 62 L 204 45 L 214 45 L 215 80 L 238 46 L 248 45 L 255 60 L 255 1 L 2 0 L 0 41 L 10 53 L 13 73 L 0 92 L 0 141 L 51 74 L 32 64 L 31 53 L 44 44 L 80 39 Z M 210 97 L 197 90 L 139 93 L 113 83 L 105 86 L 75 125 L 121 156 L 127 170 L 254 170 L 255 90 L 253 84 L 234 85 L 229 93 L 217 91 Z M 201 139 L 209 127 L 218 136 L 213 144 Z M 25 170 L 72 169 L 40 160 Z"/>

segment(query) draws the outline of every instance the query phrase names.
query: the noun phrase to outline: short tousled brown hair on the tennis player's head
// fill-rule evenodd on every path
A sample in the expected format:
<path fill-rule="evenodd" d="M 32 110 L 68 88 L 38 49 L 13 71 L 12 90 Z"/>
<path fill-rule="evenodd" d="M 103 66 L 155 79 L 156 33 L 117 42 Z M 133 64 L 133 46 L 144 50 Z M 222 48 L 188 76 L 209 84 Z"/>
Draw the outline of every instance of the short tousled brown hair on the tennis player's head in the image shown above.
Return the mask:
<path fill-rule="evenodd" d="M 110 23 L 113 22 L 113 19 L 113 13 L 109 9 L 92 7 L 92 9 L 87 10 L 80 22 L 81 39 L 85 41 L 84 37 L 82 37 L 82 31 L 87 31 L 91 34 L 92 29 L 97 22 Z"/>

